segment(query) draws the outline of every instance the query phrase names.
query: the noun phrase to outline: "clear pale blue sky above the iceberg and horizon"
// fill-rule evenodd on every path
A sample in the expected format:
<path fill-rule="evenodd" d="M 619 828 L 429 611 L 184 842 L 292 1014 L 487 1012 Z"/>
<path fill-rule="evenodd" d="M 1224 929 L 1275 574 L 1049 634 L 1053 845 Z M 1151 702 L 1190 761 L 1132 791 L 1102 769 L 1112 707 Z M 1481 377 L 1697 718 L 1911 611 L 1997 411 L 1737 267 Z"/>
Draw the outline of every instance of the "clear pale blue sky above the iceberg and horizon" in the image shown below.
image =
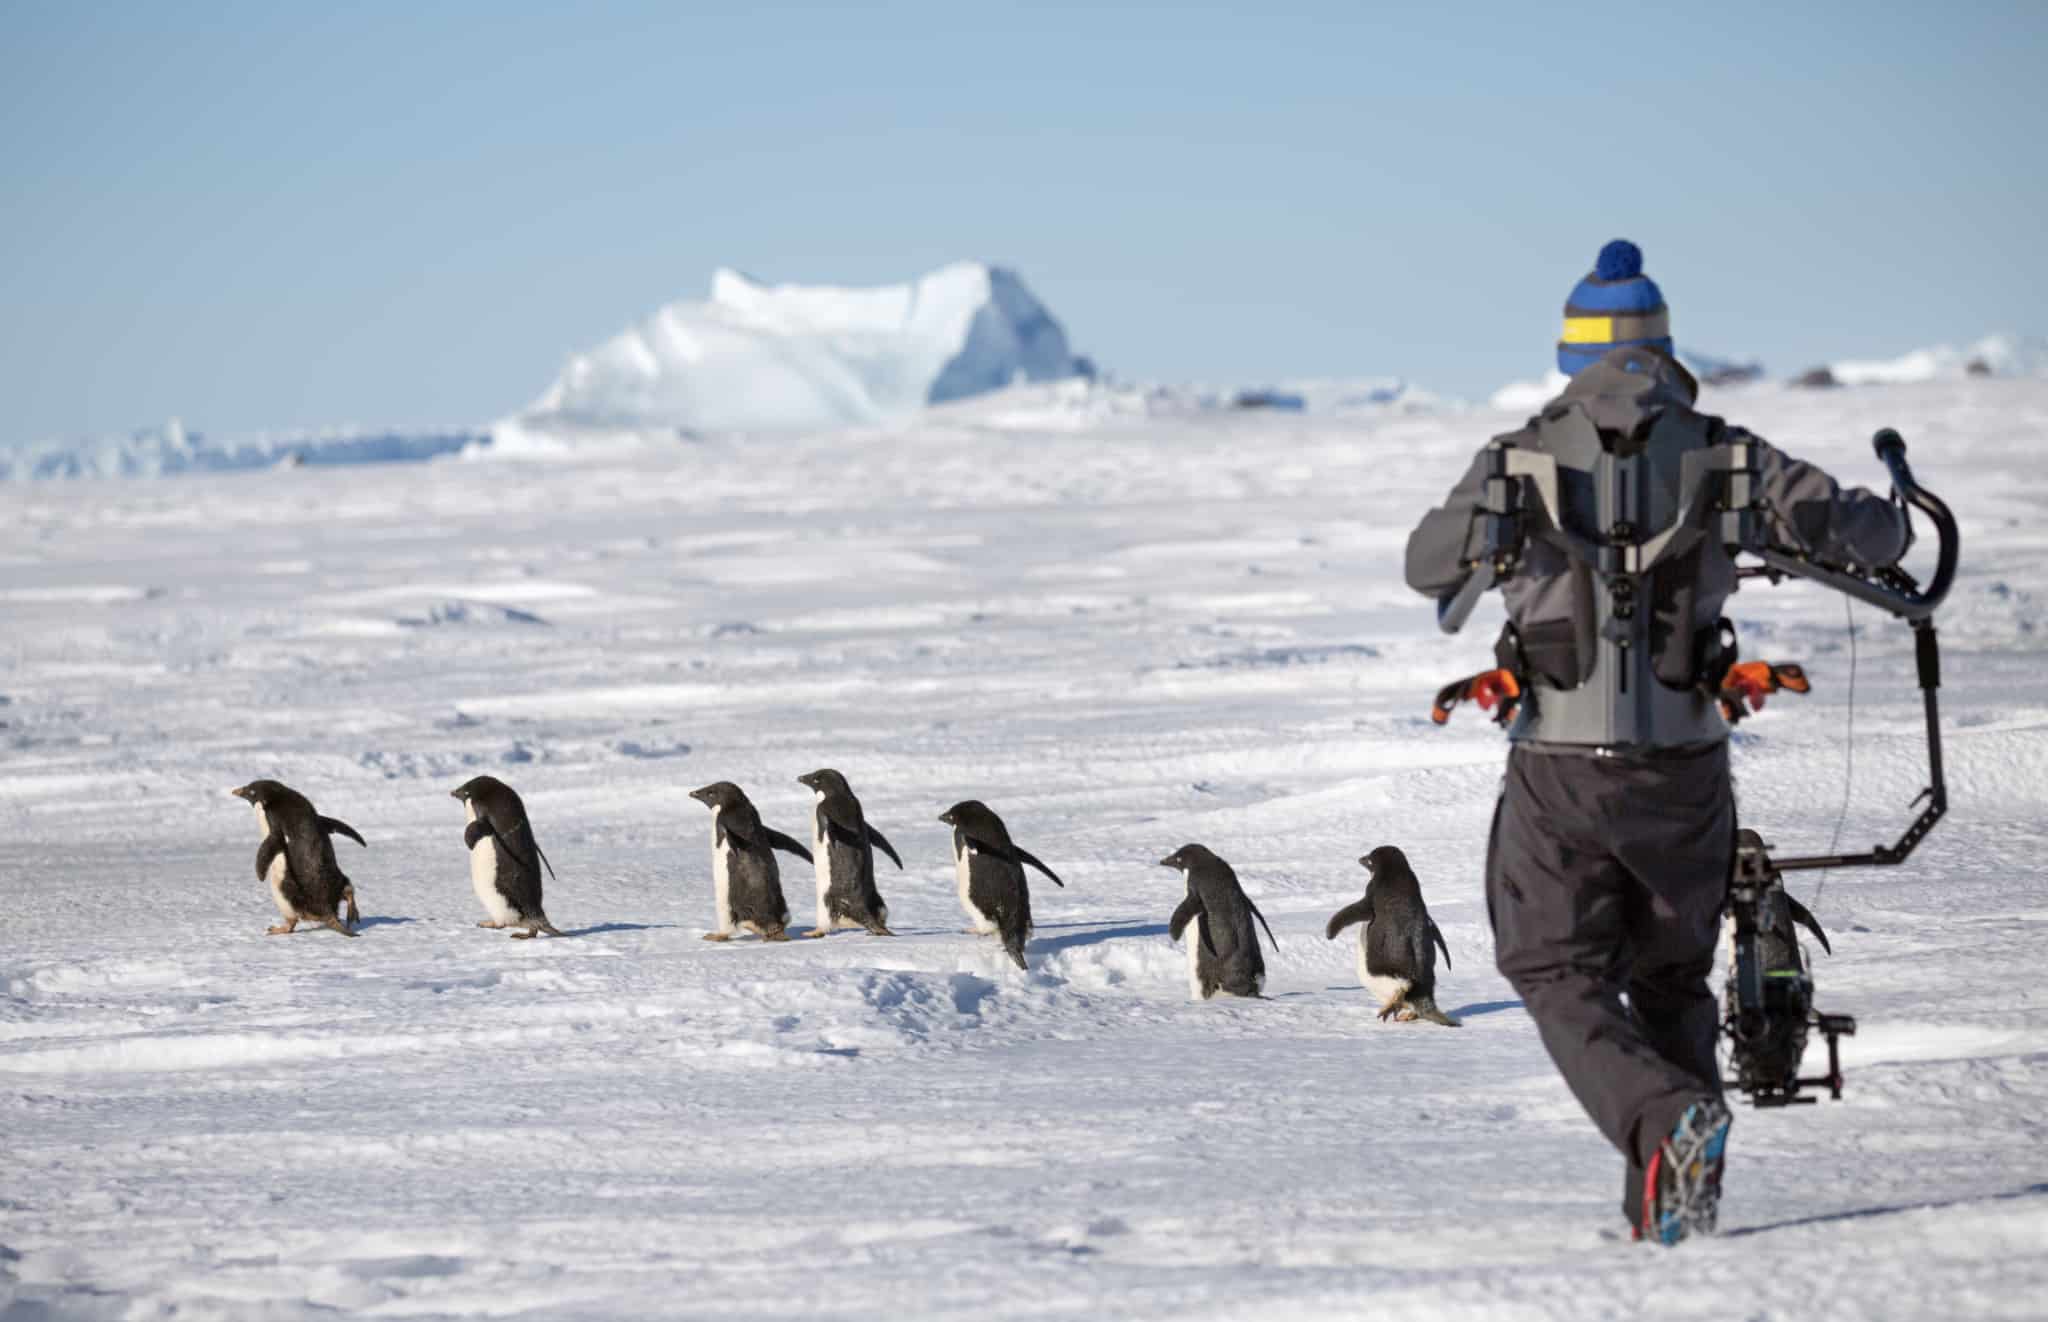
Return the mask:
<path fill-rule="evenodd" d="M 1903 12 L 1890 12 L 1898 8 Z M 2048 6 L 0 8 L 0 442 L 481 422 L 713 266 L 1016 266 L 1124 377 L 2048 332 Z"/>

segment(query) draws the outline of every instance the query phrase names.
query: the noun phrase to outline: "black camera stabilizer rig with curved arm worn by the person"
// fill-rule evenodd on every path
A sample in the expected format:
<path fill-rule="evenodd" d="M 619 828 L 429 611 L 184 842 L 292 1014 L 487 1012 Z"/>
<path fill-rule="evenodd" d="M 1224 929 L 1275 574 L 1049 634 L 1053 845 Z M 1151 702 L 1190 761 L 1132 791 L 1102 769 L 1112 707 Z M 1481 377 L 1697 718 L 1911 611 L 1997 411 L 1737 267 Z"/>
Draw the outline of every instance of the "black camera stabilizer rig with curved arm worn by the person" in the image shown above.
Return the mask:
<path fill-rule="evenodd" d="M 1487 483 L 1481 499 L 1481 542 L 1464 583 L 1438 604 L 1438 624 L 1444 632 L 1464 626 L 1479 598 L 1505 583 L 1520 567 L 1526 540 L 1548 536 L 1567 544 L 1593 567 L 1606 587 L 1610 624 L 1604 638 L 1628 647 L 1636 616 L 1634 602 L 1642 598 L 1647 571 L 1669 553 L 1686 528 L 1718 536 L 1731 555 L 1751 555 L 1759 565 L 1743 565 L 1737 577 L 1810 579 L 1858 602 L 1876 606 L 1913 626 L 1915 661 L 1921 700 L 1927 712 L 1929 786 L 1915 798 L 1923 804 L 1919 817 L 1890 845 L 1874 845 L 1866 853 L 1817 853 L 1778 857 L 1753 831 L 1743 831 L 1735 872 L 1729 882 L 1729 907 L 1735 917 L 1735 960 L 1729 978 L 1729 1011 L 1722 1031 L 1733 1044 L 1731 1070 L 1735 1085 L 1753 1105 L 1782 1107 L 1810 1103 L 1802 1089 L 1827 1087 L 1841 1097 L 1841 1038 L 1855 1033 L 1849 1015 L 1823 1015 L 1812 1009 L 1812 972 L 1806 964 L 1794 923 L 1804 923 L 1827 945 L 1821 925 L 1784 888 L 1786 872 L 1819 868 L 1878 868 L 1903 864 L 1948 812 L 1948 784 L 1942 776 L 1942 722 L 1937 690 L 1942 688 L 1942 649 L 1933 628 L 1933 612 L 1948 598 L 1956 577 L 1958 534 L 1948 505 L 1919 485 L 1907 465 L 1907 442 L 1886 428 L 1872 440 L 1878 458 L 1892 475 L 1892 491 L 1911 508 L 1921 510 L 1935 526 L 1939 557 L 1933 579 L 1921 587 L 1898 567 L 1864 573 L 1845 565 L 1829 565 L 1810 555 L 1774 544 L 1757 497 L 1755 452 L 1737 440 L 1718 446 L 1712 458 L 1688 456 L 1677 518 L 1663 530 L 1642 528 L 1616 518 L 1599 536 L 1567 530 L 1559 508 L 1556 460 L 1548 454 L 1497 446 L 1487 456 Z M 1606 499 L 1608 510 L 1626 508 Z M 1624 690 L 1626 692 L 1626 690 Z M 1808 1031 L 1827 1038 L 1827 1074 L 1800 1078 L 1800 1058 Z"/>

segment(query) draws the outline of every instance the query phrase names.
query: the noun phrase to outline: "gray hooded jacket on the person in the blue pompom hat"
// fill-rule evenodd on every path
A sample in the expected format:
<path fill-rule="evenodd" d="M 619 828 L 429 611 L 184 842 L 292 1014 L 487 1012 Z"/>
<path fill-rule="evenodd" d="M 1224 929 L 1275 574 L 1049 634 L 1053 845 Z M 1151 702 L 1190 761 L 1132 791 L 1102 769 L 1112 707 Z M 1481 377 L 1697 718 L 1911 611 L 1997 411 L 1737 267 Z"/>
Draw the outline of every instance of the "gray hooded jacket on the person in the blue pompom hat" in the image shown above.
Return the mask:
<path fill-rule="evenodd" d="M 1559 452 L 1556 436 L 1571 411 L 1599 430 L 1602 444 L 1640 442 L 1653 465 L 1675 475 L 1677 452 L 1702 444 L 1745 440 L 1755 450 L 1757 497 L 1769 542 L 1812 559 L 1878 569 L 1892 565 L 1907 548 L 1905 514 L 1886 497 L 1864 487 L 1843 491 L 1821 469 L 1788 458 L 1772 444 L 1718 417 L 1698 413 L 1698 383 L 1675 360 L 1645 348 L 1618 348 L 1571 379 L 1528 426 L 1495 436 L 1487 450 L 1511 444 L 1556 452 L 1561 465 L 1573 456 Z M 1583 428 L 1583 424 L 1579 424 Z M 1456 591 L 1483 550 L 1483 526 L 1475 518 L 1487 471 L 1487 450 L 1473 460 L 1450 497 L 1423 516 L 1407 542 L 1409 587 L 1432 598 Z M 1675 485 L 1675 477 L 1665 479 Z M 1575 487 L 1563 485 L 1567 508 Z M 1661 722 L 1655 743 L 1696 745 L 1726 737 L 1712 696 L 1702 688 L 1718 681 L 1704 673 L 1716 624 L 1735 591 L 1735 563 L 1716 538 L 1704 538 L 1690 555 L 1663 565 L 1651 579 L 1651 655 L 1655 675 L 1679 704 L 1675 720 Z M 1575 712 L 1577 700 L 1544 702 L 1542 690 L 1569 694 L 1591 673 L 1589 620 L 1595 587 L 1583 567 L 1575 567 L 1556 544 L 1528 538 L 1522 563 L 1503 583 L 1511 632 L 1503 634 L 1501 663 L 1524 671 L 1538 686 L 1516 722 L 1513 739 L 1536 745 L 1604 745 L 1604 722 Z M 1518 649 L 1518 651 L 1516 651 Z M 1548 718 L 1544 718 L 1548 706 Z M 1659 722 L 1653 722 L 1659 724 Z"/>

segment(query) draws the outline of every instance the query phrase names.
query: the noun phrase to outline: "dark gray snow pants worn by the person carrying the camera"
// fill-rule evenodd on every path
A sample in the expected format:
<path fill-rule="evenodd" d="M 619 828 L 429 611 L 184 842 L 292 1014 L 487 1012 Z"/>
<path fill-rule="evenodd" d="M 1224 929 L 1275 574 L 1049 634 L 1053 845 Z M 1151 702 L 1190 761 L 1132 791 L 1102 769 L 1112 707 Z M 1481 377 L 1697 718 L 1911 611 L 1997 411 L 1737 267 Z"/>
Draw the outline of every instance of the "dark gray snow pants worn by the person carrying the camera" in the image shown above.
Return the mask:
<path fill-rule="evenodd" d="M 1720 1095 L 1708 990 L 1735 864 L 1729 745 L 1657 757 L 1516 747 L 1487 847 L 1495 964 L 1579 1105 L 1642 1169 Z M 1622 1003 L 1622 995 L 1628 1003 Z"/>

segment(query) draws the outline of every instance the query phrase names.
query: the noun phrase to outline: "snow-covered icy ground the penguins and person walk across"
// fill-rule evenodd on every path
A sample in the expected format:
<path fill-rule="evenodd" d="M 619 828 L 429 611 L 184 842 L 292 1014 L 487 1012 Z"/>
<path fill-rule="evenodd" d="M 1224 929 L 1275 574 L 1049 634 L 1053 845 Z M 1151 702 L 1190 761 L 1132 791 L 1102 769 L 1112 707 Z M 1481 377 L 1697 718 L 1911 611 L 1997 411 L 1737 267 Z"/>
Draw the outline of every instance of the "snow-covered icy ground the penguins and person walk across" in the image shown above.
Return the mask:
<path fill-rule="evenodd" d="M 2048 383 L 1708 399 L 1878 481 L 1898 426 L 1964 524 L 1954 812 L 1835 874 L 1843 1103 L 1741 1113 L 1729 1236 L 1620 1238 L 1618 1158 L 1491 970 L 1495 731 L 1427 724 L 1491 622 L 1399 581 L 1499 413 L 1102 411 L 582 460 L 0 489 L 0 1314 L 1954 1318 L 2048 1299 Z M 1028 417 L 1026 417 L 1028 422 Z M 1823 847 L 1843 606 L 1739 600 L 1800 659 L 1737 743 Z M 1907 632 L 1858 612 L 1845 845 L 1919 792 Z M 901 933 L 709 945 L 737 780 L 803 833 L 844 769 Z M 461 780 L 516 786 L 571 939 L 479 931 Z M 360 939 L 266 937 L 276 776 L 358 827 Z M 1028 974 L 961 931 L 979 796 L 1034 882 Z M 1153 860 L 1272 919 L 1270 1001 L 1198 1005 Z M 1466 1027 L 1382 1025 L 1368 847 L 1415 862 Z M 799 923 L 809 876 L 784 872 Z M 1819 880 L 1794 878 L 1815 898 Z"/>

